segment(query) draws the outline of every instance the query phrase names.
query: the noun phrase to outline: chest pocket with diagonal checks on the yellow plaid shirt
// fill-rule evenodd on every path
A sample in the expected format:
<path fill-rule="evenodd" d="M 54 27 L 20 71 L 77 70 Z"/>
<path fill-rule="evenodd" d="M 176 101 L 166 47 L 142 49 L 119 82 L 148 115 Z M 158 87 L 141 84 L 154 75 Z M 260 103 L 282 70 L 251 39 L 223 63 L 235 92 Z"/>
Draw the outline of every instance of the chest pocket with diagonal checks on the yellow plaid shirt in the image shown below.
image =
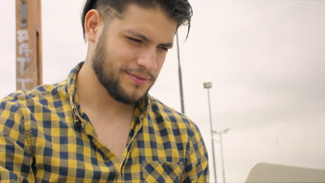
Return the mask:
<path fill-rule="evenodd" d="M 142 162 L 143 182 L 180 182 L 183 162 Z"/>

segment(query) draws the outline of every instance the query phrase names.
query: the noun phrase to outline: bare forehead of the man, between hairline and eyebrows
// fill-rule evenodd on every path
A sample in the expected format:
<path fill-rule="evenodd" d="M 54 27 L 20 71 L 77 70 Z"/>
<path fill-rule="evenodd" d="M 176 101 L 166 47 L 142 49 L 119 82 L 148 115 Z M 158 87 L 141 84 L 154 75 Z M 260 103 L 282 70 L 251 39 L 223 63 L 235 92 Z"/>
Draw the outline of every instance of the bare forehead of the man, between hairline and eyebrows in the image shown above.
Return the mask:
<path fill-rule="evenodd" d="M 142 8 L 135 4 L 128 5 L 121 17 L 112 19 L 110 26 L 116 31 L 134 30 L 164 42 L 174 40 L 177 29 L 176 21 L 168 17 L 162 8 Z"/>

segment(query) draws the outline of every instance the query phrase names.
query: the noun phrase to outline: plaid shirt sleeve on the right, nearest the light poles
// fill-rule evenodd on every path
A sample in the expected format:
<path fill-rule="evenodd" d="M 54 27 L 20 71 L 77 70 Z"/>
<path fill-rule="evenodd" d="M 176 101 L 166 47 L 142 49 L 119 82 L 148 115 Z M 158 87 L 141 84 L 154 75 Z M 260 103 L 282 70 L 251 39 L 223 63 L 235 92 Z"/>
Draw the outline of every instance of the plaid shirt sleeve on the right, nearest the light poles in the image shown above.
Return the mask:
<path fill-rule="evenodd" d="M 186 152 L 185 173 L 181 182 L 208 182 L 208 153 L 199 128 L 194 123 L 190 123 L 188 130 L 189 142 Z"/>

